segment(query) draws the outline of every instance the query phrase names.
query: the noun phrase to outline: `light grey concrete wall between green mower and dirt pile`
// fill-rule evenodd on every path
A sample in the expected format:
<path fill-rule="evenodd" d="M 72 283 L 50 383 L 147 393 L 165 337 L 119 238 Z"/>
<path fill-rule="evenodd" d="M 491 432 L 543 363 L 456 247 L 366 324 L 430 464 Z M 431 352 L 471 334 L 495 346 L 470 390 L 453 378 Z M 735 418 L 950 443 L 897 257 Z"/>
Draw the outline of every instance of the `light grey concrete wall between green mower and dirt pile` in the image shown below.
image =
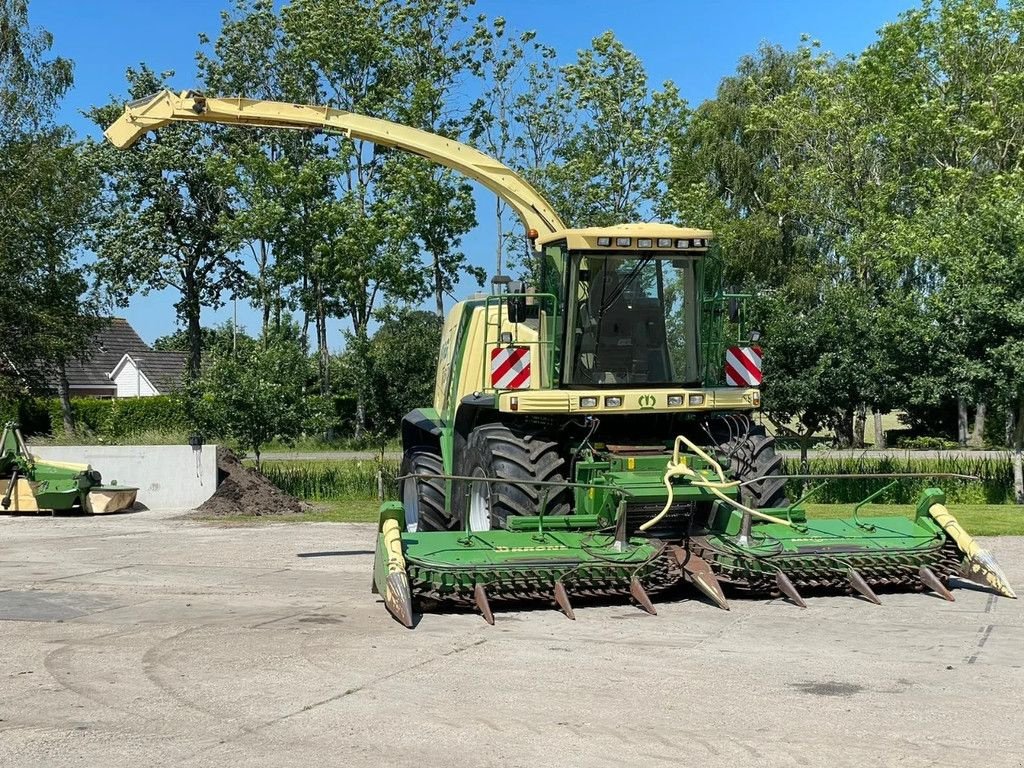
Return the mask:
<path fill-rule="evenodd" d="M 193 509 L 217 489 L 217 447 L 203 445 L 29 445 L 40 459 L 90 464 L 103 482 L 138 487 L 150 509 Z"/>

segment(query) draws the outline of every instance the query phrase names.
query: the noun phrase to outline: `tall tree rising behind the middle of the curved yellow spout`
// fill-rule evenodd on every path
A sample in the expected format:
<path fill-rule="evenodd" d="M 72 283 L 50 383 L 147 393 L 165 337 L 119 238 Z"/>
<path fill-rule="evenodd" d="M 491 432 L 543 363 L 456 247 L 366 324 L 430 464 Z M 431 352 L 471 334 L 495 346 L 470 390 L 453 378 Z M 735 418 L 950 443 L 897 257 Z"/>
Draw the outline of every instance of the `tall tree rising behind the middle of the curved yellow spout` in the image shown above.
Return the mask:
<path fill-rule="evenodd" d="M 296 55 L 315 74 L 322 102 L 445 130 L 446 99 L 465 59 L 455 35 L 464 5 L 461 0 L 297 0 L 282 10 L 282 23 L 295 41 Z M 392 194 L 415 159 L 375 151 L 366 141 L 336 136 L 325 140 L 335 164 L 333 173 L 325 176 L 331 195 L 309 211 L 309 233 L 300 236 L 310 239 L 301 250 L 310 257 L 308 283 L 318 291 L 310 303 L 317 323 L 325 318 L 318 338 L 326 340 L 326 317 L 347 316 L 351 344 L 365 349 L 379 302 L 418 301 L 429 295 L 432 284 L 445 283 L 443 272 L 450 265 L 459 266 L 463 260 L 452 249 L 450 231 L 433 239 L 447 249 L 429 254 L 433 269 L 424 269 L 416 258 L 417 236 L 438 230 L 427 226 L 423 216 L 436 221 L 444 211 L 421 210 L 420 219 L 414 220 L 401 196 Z M 438 269 L 442 279 L 431 280 Z M 446 280 L 454 284 L 457 278 L 453 270 Z M 318 350 L 324 370 L 330 370 L 327 345 L 318 344 Z M 357 433 L 366 425 L 366 385 L 364 381 L 358 388 Z"/>

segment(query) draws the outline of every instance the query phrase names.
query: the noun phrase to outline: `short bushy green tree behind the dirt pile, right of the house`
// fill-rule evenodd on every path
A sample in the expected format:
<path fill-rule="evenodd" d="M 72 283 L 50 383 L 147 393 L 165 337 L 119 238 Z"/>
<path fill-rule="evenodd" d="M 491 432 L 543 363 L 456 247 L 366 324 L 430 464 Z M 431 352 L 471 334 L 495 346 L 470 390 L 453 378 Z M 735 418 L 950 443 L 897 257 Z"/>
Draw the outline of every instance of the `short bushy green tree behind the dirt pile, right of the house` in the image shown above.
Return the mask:
<path fill-rule="evenodd" d="M 217 349 L 194 385 L 198 426 L 252 451 L 257 469 L 264 445 L 323 429 L 326 413 L 322 397 L 306 394 L 309 358 L 298 326 L 286 321 L 261 341 L 237 353 Z"/>

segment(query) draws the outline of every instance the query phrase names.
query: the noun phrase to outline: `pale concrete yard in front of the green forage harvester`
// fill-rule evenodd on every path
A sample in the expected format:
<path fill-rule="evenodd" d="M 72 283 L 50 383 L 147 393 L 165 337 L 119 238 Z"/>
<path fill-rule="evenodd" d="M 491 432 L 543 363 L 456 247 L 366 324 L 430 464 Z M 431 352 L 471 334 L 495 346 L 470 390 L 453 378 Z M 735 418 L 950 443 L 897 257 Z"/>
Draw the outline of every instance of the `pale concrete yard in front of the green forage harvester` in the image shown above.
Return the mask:
<path fill-rule="evenodd" d="M 986 542 L 1024 585 L 1024 539 Z M 462 613 L 373 527 L 0 518 L 3 766 L 1021 766 L 1024 601 Z"/>

